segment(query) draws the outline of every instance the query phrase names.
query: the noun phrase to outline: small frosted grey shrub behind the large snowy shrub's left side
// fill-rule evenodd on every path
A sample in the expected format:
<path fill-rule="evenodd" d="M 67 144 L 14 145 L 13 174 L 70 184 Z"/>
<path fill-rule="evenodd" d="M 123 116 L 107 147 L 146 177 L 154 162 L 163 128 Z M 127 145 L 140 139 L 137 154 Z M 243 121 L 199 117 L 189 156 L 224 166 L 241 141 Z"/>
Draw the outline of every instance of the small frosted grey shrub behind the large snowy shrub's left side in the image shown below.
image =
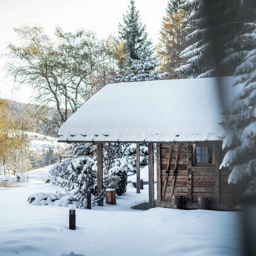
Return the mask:
<path fill-rule="evenodd" d="M 60 183 L 62 183 L 62 185 L 64 185 L 63 180 L 67 180 L 69 177 L 67 168 L 70 164 L 70 161 L 71 161 L 71 158 L 67 158 L 64 161 L 62 161 L 61 163 L 56 163 L 49 170 L 50 182 L 53 185 L 59 185 Z"/>

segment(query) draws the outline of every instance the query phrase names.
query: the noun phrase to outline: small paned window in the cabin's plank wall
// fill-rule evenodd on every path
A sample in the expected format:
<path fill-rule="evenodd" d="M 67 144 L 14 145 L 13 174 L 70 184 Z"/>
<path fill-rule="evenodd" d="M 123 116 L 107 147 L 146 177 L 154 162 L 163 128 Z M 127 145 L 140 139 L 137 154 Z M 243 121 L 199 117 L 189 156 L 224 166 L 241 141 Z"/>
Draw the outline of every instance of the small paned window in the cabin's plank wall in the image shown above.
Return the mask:
<path fill-rule="evenodd" d="M 214 164 L 214 144 L 195 144 L 193 147 L 194 165 L 213 165 Z"/>

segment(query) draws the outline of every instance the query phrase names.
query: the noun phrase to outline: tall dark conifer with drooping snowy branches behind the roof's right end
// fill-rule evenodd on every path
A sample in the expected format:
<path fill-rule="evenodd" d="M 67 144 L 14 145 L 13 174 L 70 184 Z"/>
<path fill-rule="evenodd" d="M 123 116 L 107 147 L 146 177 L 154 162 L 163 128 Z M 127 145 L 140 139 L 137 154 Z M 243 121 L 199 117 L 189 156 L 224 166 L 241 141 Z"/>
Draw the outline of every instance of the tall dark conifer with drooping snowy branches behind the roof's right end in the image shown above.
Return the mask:
<path fill-rule="evenodd" d="M 194 78 L 233 75 L 238 62 L 230 66 L 222 60 L 233 51 L 232 42 L 241 34 L 244 23 L 254 21 L 255 6 L 254 0 L 188 2 L 185 10 L 191 12 L 193 32 L 188 35 L 189 47 L 180 54 L 186 64 L 177 72 Z"/>

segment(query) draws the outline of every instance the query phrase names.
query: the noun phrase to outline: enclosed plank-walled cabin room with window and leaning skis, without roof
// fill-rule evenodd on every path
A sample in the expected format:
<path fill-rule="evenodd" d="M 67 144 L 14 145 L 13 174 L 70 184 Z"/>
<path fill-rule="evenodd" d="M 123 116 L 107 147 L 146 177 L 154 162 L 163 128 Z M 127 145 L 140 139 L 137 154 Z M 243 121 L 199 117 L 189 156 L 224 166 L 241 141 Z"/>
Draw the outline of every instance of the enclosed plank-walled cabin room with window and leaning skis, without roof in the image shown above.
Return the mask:
<path fill-rule="evenodd" d="M 219 141 L 158 143 L 156 207 L 172 208 L 173 189 L 174 196 L 182 195 L 183 209 L 198 209 L 198 197 L 207 198 L 208 209 L 235 209 L 237 195 L 235 197 L 233 185 L 228 184 L 230 171 L 219 169 L 224 157 L 221 145 Z"/>

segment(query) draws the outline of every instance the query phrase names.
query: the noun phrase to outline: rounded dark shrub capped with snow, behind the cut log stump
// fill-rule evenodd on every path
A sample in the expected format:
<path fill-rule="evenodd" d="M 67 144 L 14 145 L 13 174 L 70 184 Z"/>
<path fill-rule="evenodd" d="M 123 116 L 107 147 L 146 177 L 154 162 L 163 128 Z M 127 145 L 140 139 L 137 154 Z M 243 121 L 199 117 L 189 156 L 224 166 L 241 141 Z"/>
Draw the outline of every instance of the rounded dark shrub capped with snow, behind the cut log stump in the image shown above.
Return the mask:
<path fill-rule="evenodd" d="M 121 167 L 114 166 L 109 170 L 108 175 L 110 175 L 112 179 L 112 184 L 110 183 L 110 185 L 114 186 L 113 183 L 116 184 L 116 187 L 109 186 L 108 188 L 116 189 L 116 195 L 124 194 L 127 190 L 128 183 L 127 173 L 125 172 L 125 170 Z"/>

